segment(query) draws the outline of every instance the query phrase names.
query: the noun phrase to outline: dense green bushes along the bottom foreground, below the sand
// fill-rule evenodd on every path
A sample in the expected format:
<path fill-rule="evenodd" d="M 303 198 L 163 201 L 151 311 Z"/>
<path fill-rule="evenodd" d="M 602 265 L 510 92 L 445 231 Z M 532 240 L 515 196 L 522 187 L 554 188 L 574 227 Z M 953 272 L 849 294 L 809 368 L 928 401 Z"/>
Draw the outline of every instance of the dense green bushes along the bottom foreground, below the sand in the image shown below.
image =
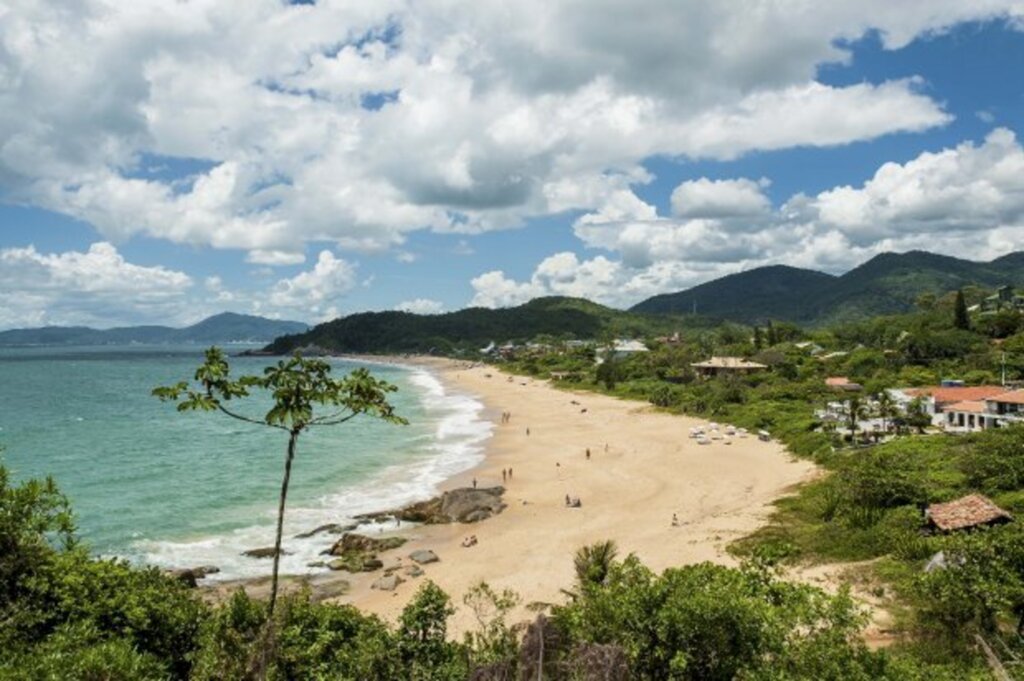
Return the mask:
<path fill-rule="evenodd" d="M 244 592 L 210 605 L 156 568 L 90 558 L 52 481 L 0 468 L 0 678 L 4 679 L 941 679 L 870 652 L 846 595 L 780 581 L 763 561 L 654 574 L 610 543 L 577 557 L 567 600 L 510 626 L 511 592 L 463 596 L 478 627 L 449 636 L 427 582 L 390 627 L 287 596 L 268 614 Z"/>

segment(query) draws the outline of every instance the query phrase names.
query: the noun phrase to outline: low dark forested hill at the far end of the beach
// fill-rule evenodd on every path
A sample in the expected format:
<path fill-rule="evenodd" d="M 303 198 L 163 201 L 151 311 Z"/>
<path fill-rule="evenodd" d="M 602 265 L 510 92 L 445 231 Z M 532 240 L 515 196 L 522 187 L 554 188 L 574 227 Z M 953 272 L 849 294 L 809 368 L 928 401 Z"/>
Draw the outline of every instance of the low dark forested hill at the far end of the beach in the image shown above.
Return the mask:
<path fill-rule="evenodd" d="M 692 327 L 696 321 L 687 322 Z M 538 336 L 599 339 L 672 333 L 678 320 L 605 307 L 580 298 L 537 298 L 518 307 L 470 307 L 444 314 L 360 312 L 279 338 L 274 353 L 315 345 L 338 352 L 449 352 Z"/>

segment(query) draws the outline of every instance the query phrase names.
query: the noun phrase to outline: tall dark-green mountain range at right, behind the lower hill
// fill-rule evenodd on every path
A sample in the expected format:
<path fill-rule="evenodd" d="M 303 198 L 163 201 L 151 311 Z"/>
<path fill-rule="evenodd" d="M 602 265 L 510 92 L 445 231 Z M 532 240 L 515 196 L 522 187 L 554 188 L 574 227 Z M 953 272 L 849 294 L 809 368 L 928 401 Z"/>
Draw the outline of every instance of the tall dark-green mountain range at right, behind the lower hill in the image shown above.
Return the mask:
<path fill-rule="evenodd" d="M 925 293 L 941 295 L 966 286 L 1024 285 L 1024 252 L 974 262 L 924 251 L 883 253 L 834 276 L 773 265 L 648 298 L 632 310 L 685 312 L 758 323 L 768 318 L 826 324 L 905 312 Z"/>

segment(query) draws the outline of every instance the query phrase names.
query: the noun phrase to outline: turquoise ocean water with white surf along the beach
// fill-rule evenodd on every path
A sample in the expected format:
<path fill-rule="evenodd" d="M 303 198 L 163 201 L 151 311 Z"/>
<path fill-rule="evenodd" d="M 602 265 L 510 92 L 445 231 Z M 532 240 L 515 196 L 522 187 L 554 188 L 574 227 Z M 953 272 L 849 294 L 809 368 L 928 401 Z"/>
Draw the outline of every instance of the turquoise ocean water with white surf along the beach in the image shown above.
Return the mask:
<path fill-rule="evenodd" d="M 0 463 L 15 480 L 52 475 L 94 553 L 164 567 L 216 565 L 213 579 L 269 573 L 242 552 L 273 544 L 287 435 L 151 396 L 190 378 L 195 346 L 0 348 Z M 232 357 L 260 373 L 271 357 Z M 332 359 L 335 374 L 357 366 Z M 285 522 L 284 573 L 332 541 L 295 539 L 328 522 L 425 499 L 483 457 L 483 405 L 418 368 L 369 365 L 398 386 L 395 426 L 357 418 L 303 434 Z M 261 414 L 260 405 L 249 412 Z M 265 410 L 264 410 L 265 411 Z"/>

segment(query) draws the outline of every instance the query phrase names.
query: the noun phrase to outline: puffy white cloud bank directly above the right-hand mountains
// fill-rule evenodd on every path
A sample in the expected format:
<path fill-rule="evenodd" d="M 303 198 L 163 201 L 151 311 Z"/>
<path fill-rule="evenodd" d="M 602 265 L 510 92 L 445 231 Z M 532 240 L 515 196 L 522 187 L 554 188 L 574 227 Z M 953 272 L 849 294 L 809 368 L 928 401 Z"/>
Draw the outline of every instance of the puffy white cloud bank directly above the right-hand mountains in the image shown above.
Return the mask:
<path fill-rule="evenodd" d="M 673 193 L 671 217 L 628 190 L 612 193 L 577 220 L 574 231 L 585 246 L 616 259 L 559 253 L 526 282 L 487 272 L 472 281 L 473 302 L 503 306 L 583 295 L 625 306 L 767 264 L 842 272 L 887 251 L 988 260 L 1024 244 L 1024 147 L 1005 128 L 981 143 L 887 163 L 859 187 L 797 195 L 778 209 L 762 184 L 683 182 Z"/>

